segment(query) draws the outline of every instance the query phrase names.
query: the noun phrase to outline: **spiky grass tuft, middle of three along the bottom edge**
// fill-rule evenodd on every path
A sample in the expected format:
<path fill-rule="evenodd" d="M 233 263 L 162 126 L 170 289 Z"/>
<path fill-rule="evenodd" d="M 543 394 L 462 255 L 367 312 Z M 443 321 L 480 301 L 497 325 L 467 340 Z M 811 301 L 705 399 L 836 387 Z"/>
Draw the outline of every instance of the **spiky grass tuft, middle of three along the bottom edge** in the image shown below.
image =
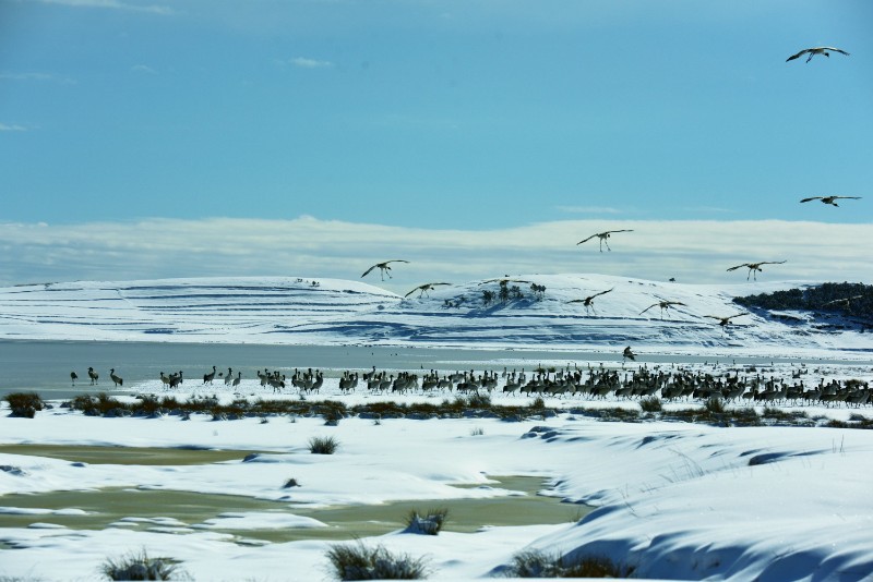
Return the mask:
<path fill-rule="evenodd" d="M 336 580 L 422 580 L 428 574 L 421 558 L 392 554 L 383 546 L 369 548 L 360 542 L 331 547 L 327 561 Z"/>

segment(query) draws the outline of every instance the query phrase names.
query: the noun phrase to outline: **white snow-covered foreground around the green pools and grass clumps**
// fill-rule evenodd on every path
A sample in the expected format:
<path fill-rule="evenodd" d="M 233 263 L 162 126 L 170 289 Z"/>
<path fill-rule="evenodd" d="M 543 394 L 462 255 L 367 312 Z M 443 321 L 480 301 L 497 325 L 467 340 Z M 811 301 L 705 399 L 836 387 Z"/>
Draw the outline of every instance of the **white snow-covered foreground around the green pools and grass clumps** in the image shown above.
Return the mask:
<path fill-rule="evenodd" d="M 826 411 L 824 411 L 826 413 Z M 333 456 L 310 454 L 312 436 L 335 436 Z M 495 419 L 274 417 L 213 422 L 208 415 L 88 417 L 56 408 L 0 420 L 4 444 L 206 447 L 272 450 L 243 462 L 111 465 L 0 454 L 0 494 L 107 487 L 222 493 L 289 504 L 379 504 L 398 499 L 487 499 L 489 475 L 550 478 L 545 495 L 598 509 L 578 522 L 492 528 L 439 536 L 395 532 L 366 544 L 426 557 L 431 578 L 487 578 L 521 550 L 607 555 L 643 578 L 863 580 L 873 577 L 873 433 L 862 429 L 716 428 L 666 422 L 613 423 L 559 414 Z M 280 487 L 294 476 L 302 485 Z M 457 488 L 453 485 L 479 484 Z M 2 514 L 24 510 L 3 506 Z M 483 501 L 485 502 L 485 501 Z M 52 526 L 46 510 L 29 528 L 2 528 L 0 577 L 87 580 L 107 557 L 146 548 L 181 560 L 196 580 L 320 580 L 335 542 L 252 546 L 211 531 L 319 526 L 303 518 L 235 513 L 204 523 L 167 516 L 132 531 Z M 28 509 L 26 511 L 34 511 Z M 451 519 L 451 518 L 450 518 Z M 278 520 L 278 521 L 277 521 Z M 217 523 L 216 523 L 217 522 Z"/>

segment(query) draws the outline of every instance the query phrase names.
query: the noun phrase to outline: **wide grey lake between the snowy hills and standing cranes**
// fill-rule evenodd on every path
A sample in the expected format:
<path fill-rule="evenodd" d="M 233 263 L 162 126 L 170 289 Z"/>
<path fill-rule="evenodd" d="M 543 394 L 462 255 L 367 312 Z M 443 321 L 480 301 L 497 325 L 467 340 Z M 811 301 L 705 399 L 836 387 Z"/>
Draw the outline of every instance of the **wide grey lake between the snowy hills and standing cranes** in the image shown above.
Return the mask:
<path fill-rule="evenodd" d="M 792 362 L 796 360 L 731 357 L 738 364 Z M 704 363 L 709 356 L 656 355 L 638 357 L 637 363 Z M 320 368 L 327 377 L 339 376 L 343 369 L 457 369 L 510 368 L 533 369 L 539 364 L 606 362 L 621 364 L 620 351 L 558 352 L 524 350 L 462 350 L 438 348 L 386 348 L 360 345 L 262 345 L 225 343 L 157 343 L 157 342 L 88 342 L 88 341 L 0 341 L 0 395 L 35 390 L 46 400 L 69 399 L 83 392 L 116 393 L 109 369 L 124 378 L 124 386 L 156 380 L 160 372 L 184 371 L 184 377 L 202 381 L 203 374 L 216 366 L 219 373 L 227 367 L 242 372 L 243 378 L 254 378 L 259 369 Z M 825 361 L 804 360 L 806 363 Z M 859 362 L 827 361 L 832 364 Z M 100 375 L 97 386 L 87 379 L 88 366 Z M 79 379 L 75 386 L 70 372 Z M 216 375 L 216 383 L 220 383 Z"/>

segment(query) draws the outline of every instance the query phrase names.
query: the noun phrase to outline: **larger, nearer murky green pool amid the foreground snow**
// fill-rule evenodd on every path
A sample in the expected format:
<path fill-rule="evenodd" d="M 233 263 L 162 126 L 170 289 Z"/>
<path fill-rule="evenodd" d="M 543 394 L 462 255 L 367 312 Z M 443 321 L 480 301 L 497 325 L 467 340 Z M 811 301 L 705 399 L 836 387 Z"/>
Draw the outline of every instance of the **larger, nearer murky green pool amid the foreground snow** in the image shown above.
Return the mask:
<path fill-rule="evenodd" d="M 310 509 L 287 501 L 268 501 L 231 495 L 207 495 L 175 490 L 107 488 L 101 490 L 52 492 L 36 495 L 7 495 L 0 505 L 15 508 L 81 509 L 81 516 L 22 516 L 0 513 L 0 528 L 27 528 L 51 523 L 71 530 L 101 530 L 109 526 L 152 530 L 168 534 L 212 531 L 235 536 L 240 544 L 290 542 L 296 539 L 352 539 L 382 535 L 405 528 L 410 511 L 445 509 L 445 531 L 475 532 L 488 525 L 533 525 L 565 523 L 584 517 L 591 508 L 563 504 L 554 497 L 537 495 L 541 477 L 497 476 L 493 487 L 519 492 L 490 499 L 439 499 L 393 501 L 378 506 L 342 506 Z M 327 528 L 282 528 L 234 530 L 204 529 L 205 520 L 228 512 L 272 512 L 316 519 Z"/>

